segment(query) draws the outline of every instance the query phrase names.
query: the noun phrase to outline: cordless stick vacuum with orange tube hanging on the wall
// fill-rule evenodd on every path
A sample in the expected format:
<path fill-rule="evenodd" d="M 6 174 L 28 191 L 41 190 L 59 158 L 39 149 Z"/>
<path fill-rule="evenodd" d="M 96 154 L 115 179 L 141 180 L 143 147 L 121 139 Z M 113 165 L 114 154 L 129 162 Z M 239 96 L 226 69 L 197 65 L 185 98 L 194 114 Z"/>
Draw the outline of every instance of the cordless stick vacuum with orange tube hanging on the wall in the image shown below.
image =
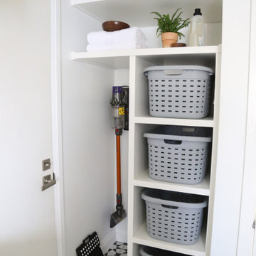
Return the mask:
<path fill-rule="evenodd" d="M 110 105 L 114 117 L 114 131 L 117 143 L 117 206 L 116 211 L 110 216 L 110 228 L 114 228 L 120 221 L 126 217 L 124 206 L 122 206 L 122 192 L 121 192 L 121 154 L 120 154 L 120 136 L 122 129 L 128 129 L 125 114 L 128 112 L 126 109 L 126 102 L 128 104 L 128 87 L 113 86 L 112 99 Z M 128 113 L 127 113 L 128 114 Z"/>

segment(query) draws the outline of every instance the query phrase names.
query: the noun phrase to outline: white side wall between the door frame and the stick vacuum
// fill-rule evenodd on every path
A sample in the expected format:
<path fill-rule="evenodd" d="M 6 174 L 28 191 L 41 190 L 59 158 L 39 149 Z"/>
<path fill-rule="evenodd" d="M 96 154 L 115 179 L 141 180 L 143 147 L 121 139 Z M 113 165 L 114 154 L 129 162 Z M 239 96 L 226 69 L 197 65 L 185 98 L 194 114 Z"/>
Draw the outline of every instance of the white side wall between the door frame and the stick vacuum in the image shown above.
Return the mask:
<path fill-rule="evenodd" d="M 102 247 L 115 240 L 114 70 L 70 60 L 72 51 L 85 51 L 87 33 L 102 28 L 69 1 L 62 1 L 61 10 L 65 241 L 66 255 L 72 256 L 93 231 Z"/>

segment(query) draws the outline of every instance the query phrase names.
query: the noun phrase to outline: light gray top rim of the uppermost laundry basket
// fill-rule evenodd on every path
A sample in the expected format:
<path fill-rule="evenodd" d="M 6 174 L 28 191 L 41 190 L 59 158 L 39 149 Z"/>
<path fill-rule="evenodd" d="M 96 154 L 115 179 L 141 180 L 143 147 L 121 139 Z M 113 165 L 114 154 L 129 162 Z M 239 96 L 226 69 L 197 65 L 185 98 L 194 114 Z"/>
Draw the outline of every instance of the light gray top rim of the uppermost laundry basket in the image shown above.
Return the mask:
<path fill-rule="evenodd" d="M 201 65 L 159 65 L 159 66 L 152 66 L 149 68 L 145 68 L 144 70 L 144 74 L 146 75 L 146 73 L 148 71 L 159 71 L 159 70 L 172 70 L 173 72 L 176 71 L 183 71 L 183 70 L 201 70 L 201 71 L 206 71 L 208 73 L 210 73 L 210 75 L 213 75 L 213 69 L 212 68 L 208 68 L 205 66 L 201 66 Z M 178 75 L 179 73 L 175 74 Z M 174 75 L 174 73 L 172 74 Z"/>

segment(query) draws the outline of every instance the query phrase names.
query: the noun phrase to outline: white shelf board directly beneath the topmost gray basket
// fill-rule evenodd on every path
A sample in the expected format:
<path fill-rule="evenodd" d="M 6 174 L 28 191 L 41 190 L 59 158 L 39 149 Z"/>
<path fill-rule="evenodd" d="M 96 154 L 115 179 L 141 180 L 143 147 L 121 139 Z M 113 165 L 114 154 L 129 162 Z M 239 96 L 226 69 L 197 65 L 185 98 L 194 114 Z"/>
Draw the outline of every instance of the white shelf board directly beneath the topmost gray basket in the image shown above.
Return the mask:
<path fill-rule="evenodd" d="M 132 120 L 131 120 L 132 121 Z M 213 117 L 205 117 L 203 119 L 179 119 L 164 117 L 134 117 L 137 124 L 165 124 L 165 125 L 184 125 L 194 127 L 213 127 Z"/>

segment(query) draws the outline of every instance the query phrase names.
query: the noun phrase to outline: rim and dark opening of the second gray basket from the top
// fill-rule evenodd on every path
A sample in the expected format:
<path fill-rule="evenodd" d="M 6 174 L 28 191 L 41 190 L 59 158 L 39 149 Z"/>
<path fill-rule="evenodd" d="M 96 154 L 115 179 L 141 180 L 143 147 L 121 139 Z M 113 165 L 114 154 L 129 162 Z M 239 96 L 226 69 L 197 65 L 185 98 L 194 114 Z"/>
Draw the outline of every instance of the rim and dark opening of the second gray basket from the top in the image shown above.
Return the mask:
<path fill-rule="evenodd" d="M 181 127 L 163 125 L 144 137 L 151 139 L 181 139 L 188 142 L 211 142 L 211 129 L 208 127 Z"/>

